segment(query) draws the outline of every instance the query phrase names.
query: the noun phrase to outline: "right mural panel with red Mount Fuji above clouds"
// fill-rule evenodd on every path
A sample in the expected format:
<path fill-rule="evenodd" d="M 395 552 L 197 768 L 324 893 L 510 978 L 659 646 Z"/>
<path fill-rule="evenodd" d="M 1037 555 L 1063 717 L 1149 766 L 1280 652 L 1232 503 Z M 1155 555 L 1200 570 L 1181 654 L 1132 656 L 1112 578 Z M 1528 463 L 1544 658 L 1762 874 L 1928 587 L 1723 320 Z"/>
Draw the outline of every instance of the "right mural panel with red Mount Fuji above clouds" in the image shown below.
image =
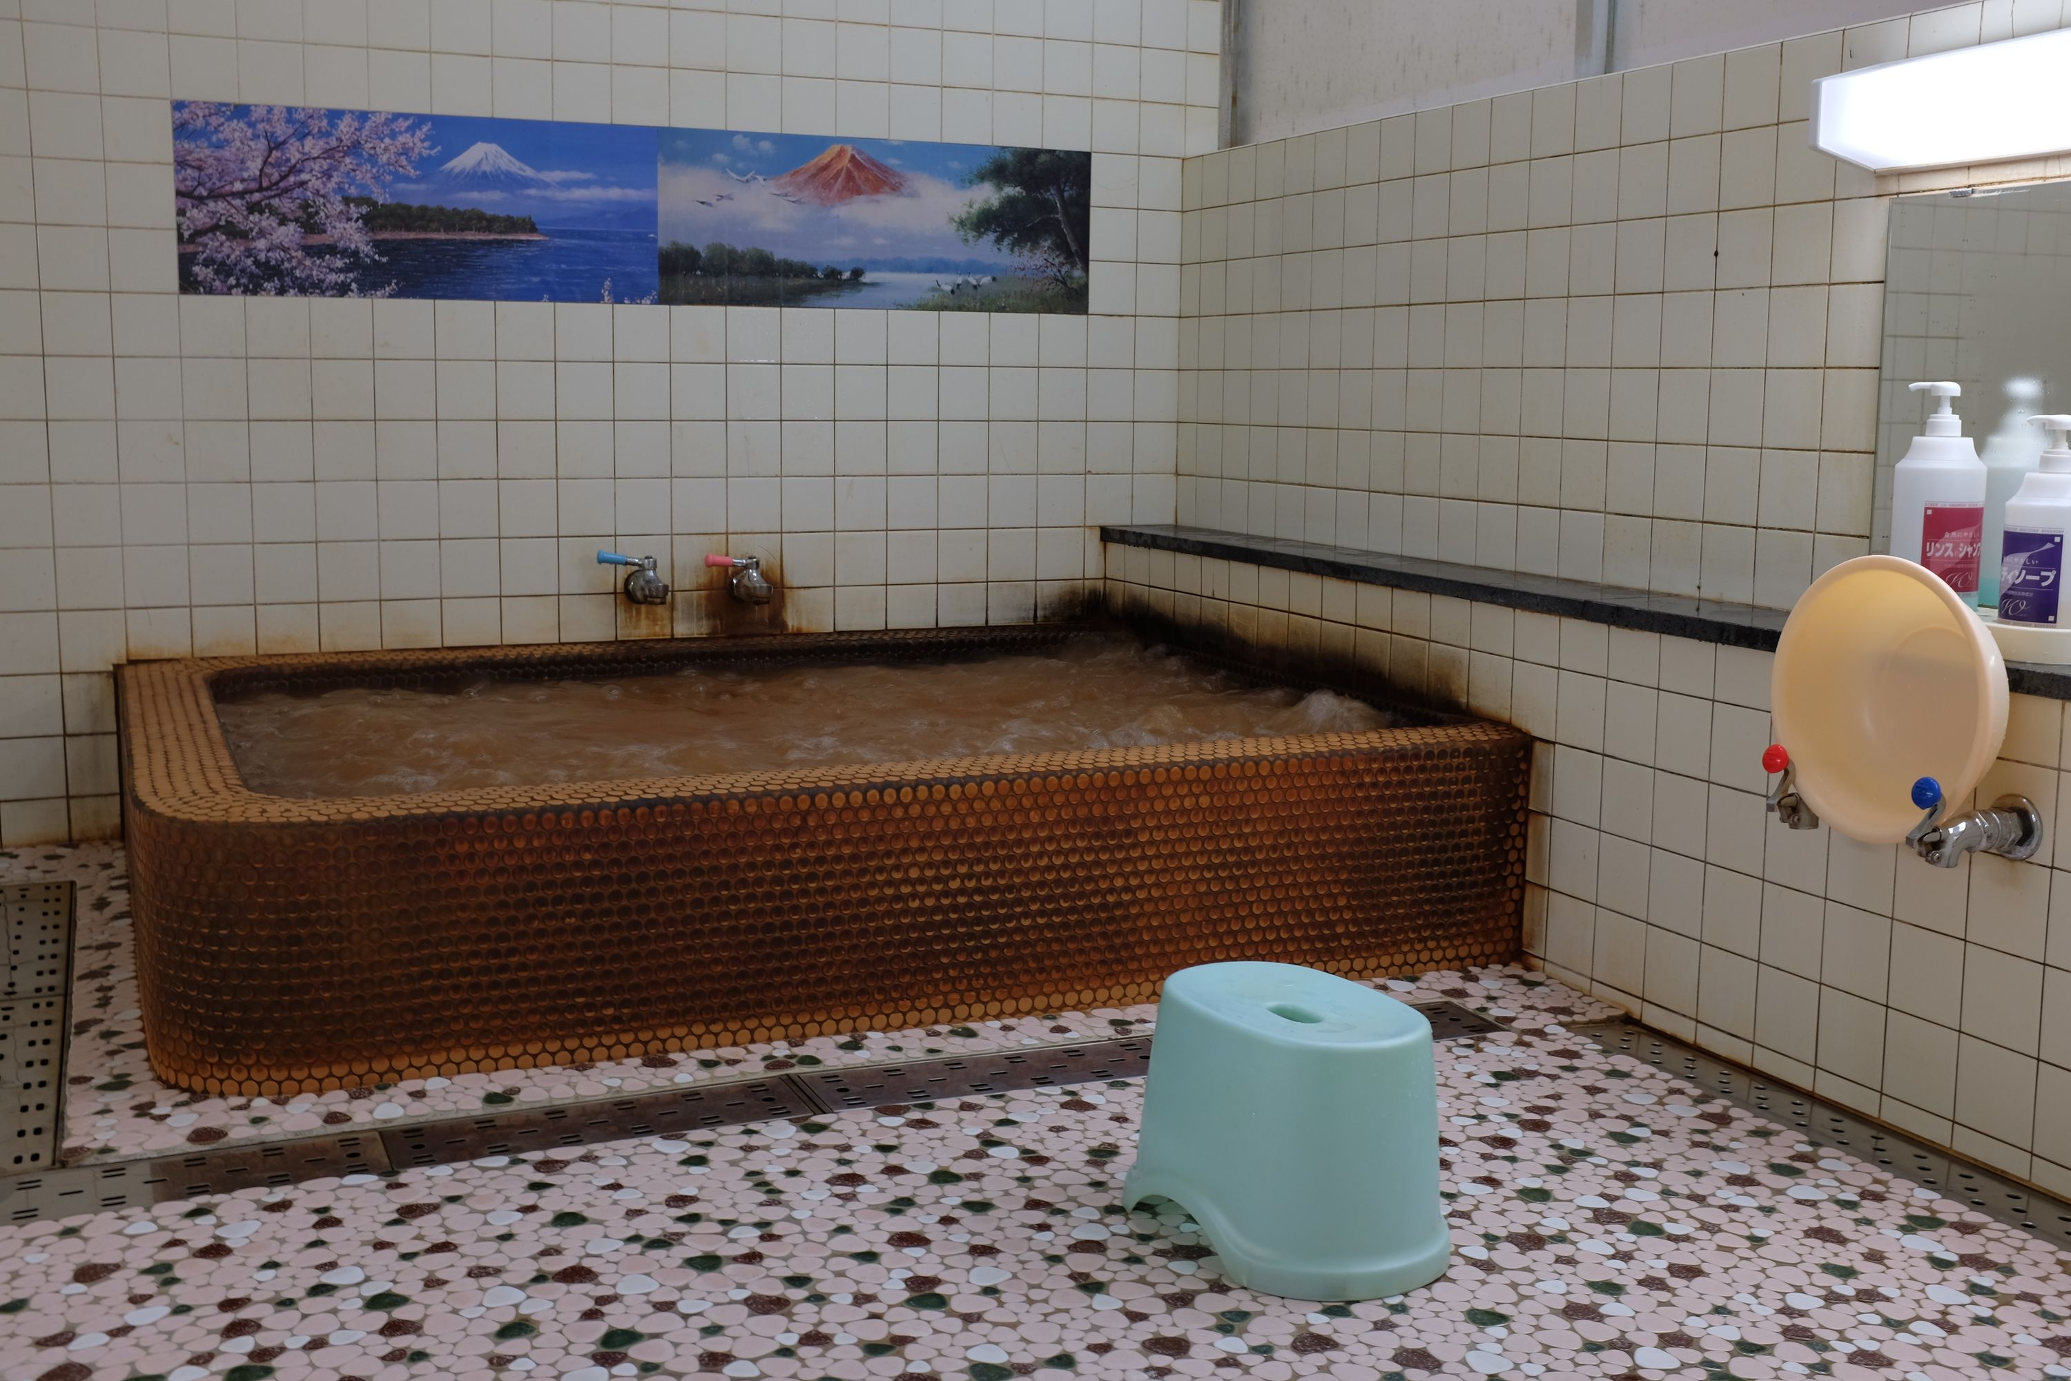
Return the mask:
<path fill-rule="evenodd" d="M 1091 153 L 661 130 L 663 302 L 1083 313 Z"/>

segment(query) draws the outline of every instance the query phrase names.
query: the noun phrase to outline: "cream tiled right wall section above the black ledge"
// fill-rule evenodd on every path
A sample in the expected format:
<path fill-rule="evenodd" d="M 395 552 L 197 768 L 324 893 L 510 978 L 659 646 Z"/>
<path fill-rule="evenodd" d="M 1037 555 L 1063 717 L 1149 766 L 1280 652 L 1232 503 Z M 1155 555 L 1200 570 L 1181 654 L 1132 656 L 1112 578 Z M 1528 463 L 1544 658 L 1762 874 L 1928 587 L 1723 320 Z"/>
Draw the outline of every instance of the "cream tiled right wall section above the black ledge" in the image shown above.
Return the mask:
<path fill-rule="evenodd" d="M 1189 159 L 1180 522 L 1787 607 L 1866 551 L 1885 277 L 1810 81 L 2061 21 L 1965 4 Z"/>

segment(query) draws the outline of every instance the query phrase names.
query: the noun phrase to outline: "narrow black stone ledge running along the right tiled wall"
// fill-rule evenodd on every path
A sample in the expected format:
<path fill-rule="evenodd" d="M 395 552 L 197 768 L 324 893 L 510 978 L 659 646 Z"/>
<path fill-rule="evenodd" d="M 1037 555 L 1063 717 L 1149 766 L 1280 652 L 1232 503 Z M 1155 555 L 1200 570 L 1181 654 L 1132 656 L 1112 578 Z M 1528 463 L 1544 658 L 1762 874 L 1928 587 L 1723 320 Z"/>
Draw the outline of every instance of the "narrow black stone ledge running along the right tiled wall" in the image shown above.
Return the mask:
<path fill-rule="evenodd" d="M 1526 576 L 1487 565 L 1456 561 L 1425 561 L 1423 557 L 1390 557 L 1361 547 L 1328 542 L 1296 542 L 1276 536 L 1247 536 L 1218 528 L 1185 528 L 1176 524 L 1104 524 L 1100 540 L 1118 547 L 1176 551 L 1189 557 L 1247 561 L 1284 571 L 1307 571 L 1367 586 L 1421 590 L 1506 609 L 1526 609 L 1564 619 L 1586 619 L 1609 627 L 1630 627 L 1642 634 L 1667 634 L 1715 642 L 1727 648 L 1773 652 L 1783 631 L 1785 609 L 1729 605 L 1725 600 L 1690 598 L 1684 594 L 1653 594 L 1626 586 L 1605 586 L 1591 580 L 1559 576 Z M 2007 663 L 2007 687 L 2017 696 L 2071 700 L 2071 667 Z"/>

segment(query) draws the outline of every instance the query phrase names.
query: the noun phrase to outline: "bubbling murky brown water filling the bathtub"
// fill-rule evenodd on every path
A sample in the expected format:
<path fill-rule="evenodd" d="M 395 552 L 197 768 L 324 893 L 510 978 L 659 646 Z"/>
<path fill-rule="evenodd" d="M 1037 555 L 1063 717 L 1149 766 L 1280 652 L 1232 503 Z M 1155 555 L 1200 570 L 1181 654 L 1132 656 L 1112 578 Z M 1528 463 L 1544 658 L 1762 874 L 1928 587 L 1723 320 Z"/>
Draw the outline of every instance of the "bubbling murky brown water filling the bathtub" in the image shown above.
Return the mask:
<path fill-rule="evenodd" d="M 1098 640 L 932 665 L 269 692 L 220 704 L 217 714 L 244 785 L 290 797 L 1154 747 L 1396 723 L 1334 692 L 1261 687 L 1174 652 Z"/>

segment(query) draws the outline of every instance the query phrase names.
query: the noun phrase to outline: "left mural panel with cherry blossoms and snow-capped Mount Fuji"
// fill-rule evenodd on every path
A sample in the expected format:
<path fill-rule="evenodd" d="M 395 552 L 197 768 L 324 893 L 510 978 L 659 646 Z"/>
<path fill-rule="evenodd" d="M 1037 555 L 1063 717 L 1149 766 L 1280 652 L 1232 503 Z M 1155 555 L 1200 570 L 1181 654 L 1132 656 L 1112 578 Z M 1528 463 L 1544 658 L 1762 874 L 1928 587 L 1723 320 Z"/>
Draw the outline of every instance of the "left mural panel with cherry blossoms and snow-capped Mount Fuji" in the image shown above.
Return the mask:
<path fill-rule="evenodd" d="M 654 130 L 174 101 L 184 292 L 654 300 Z"/>

